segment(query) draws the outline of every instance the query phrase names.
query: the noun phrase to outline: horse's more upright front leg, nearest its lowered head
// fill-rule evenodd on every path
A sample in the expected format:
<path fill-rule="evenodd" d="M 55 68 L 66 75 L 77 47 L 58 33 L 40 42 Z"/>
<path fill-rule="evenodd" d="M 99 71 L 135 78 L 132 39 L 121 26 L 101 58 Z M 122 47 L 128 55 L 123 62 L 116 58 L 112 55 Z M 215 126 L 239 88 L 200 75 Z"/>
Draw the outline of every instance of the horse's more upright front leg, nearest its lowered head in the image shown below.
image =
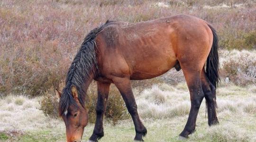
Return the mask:
<path fill-rule="evenodd" d="M 104 136 L 103 132 L 103 116 L 106 111 L 106 104 L 109 97 L 110 83 L 101 83 L 97 81 L 98 100 L 96 107 L 96 122 L 93 133 L 90 137 L 91 141 L 97 142 Z"/>

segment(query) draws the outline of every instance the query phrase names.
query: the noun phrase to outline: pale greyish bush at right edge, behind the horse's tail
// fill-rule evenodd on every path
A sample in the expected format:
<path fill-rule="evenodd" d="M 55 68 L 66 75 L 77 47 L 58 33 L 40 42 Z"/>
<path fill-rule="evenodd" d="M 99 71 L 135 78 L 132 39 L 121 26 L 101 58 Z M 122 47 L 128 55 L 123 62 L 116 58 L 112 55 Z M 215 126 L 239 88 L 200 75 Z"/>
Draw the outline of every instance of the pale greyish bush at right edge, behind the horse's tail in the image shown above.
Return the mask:
<path fill-rule="evenodd" d="M 231 52 L 232 53 L 232 52 Z M 242 51 L 223 62 L 222 74 L 235 84 L 256 82 L 256 53 Z M 224 70 L 224 71 L 223 71 Z"/>

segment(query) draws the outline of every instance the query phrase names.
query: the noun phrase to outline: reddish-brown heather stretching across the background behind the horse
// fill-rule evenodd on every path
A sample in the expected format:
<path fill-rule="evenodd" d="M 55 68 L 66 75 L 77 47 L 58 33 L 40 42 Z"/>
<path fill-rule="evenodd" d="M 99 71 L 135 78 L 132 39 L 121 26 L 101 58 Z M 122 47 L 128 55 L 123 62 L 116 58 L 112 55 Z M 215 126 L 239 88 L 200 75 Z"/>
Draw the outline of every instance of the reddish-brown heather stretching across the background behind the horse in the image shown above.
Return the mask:
<path fill-rule="evenodd" d="M 221 49 L 256 49 L 255 6 L 250 0 L 2 0 L 0 94 L 35 97 L 58 88 L 85 35 L 108 19 L 189 14 L 217 29 Z"/>

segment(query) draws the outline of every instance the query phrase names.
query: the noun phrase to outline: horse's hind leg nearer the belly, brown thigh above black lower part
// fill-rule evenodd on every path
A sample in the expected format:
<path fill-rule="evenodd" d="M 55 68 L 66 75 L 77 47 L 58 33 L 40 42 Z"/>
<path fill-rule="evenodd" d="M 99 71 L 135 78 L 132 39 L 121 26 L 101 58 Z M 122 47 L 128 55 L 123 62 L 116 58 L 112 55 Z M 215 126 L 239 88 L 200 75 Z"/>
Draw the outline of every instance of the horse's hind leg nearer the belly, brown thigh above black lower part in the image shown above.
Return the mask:
<path fill-rule="evenodd" d="M 188 121 L 180 138 L 188 138 L 188 135 L 195 131 L 196 118 L 199 111 L 199 107 L 203 100 L 204 94 L 201 87 L 201 71 L 193 71 L 192 69 L 183 69 L 183 73 L 189 88 L 191 109 L 188 117 Z"/>

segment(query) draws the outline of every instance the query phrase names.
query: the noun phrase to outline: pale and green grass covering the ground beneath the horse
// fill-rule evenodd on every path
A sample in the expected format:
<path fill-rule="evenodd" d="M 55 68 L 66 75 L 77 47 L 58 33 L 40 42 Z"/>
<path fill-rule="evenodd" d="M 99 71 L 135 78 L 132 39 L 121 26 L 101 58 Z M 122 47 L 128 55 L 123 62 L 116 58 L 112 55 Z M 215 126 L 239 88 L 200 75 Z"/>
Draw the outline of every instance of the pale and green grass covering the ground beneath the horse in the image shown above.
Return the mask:
<path fill-rule="evenodd" d="M 178 86 L 184 86 L 183 84 Z M 208 126 L 205 103 L 202 102 L 196 132 L 186 142 L 256 141 L 256 97 L 249 88 L 251 86 L 241 88 L 233 84 L 221 85 L 217 94 L 219 125 Z M 240 95 L 241 92 L 243 95 Z M 158 95 L 161 97 L 155 98 Z M 38 101 L 41 98 L 23 98 L 24 103 L 21 106 L 14 102 L 8 103 L 9 97 L 0 100 L 0 130 L 4 130 L 1 132 L 0 141 L 65 141 L 63 121 L 46 117 L 39 110 Z M 158 99 L 164 101 L 155 101 Z M 188 90 L 163 83 L 136 94 L 136 100 L 138 113 L 148 131 L 144 138 L 146 142 L 179 142 L 178 135 L 183 130 L 190 109 Z M 31 106 L 26 107 L 27 103 Z M 85 128 L 83 141 L 89 139 L 93 127 L 94 124 L 89 124 Z M 104 128 L 105 136 L 100 142 L 133 142 L 135 130 L 131 119 L 119 121 L 116 125 L 105 121 Z M 13 129 L 21 131 L 22 134 L 9 137 L 8 133 Z"/>

